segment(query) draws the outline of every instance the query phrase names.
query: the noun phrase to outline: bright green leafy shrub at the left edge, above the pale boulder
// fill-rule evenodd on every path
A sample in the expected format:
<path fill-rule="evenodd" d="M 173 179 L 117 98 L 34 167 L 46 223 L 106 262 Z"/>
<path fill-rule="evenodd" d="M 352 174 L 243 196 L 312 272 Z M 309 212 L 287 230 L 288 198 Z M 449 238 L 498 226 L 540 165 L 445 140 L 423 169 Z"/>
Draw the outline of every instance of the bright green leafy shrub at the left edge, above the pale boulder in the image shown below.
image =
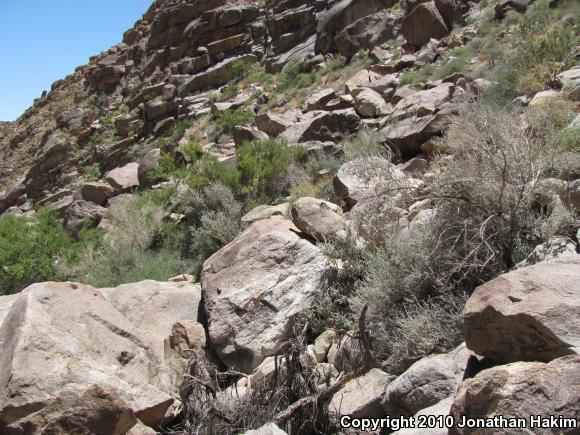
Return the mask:
<path fill-rule="evenodd" d="M 55 211 L 40 210 L 32 218 L 0 216 L 0 294 L 54 280 L 57 264 L 75 258 L 79 249 Z"/>

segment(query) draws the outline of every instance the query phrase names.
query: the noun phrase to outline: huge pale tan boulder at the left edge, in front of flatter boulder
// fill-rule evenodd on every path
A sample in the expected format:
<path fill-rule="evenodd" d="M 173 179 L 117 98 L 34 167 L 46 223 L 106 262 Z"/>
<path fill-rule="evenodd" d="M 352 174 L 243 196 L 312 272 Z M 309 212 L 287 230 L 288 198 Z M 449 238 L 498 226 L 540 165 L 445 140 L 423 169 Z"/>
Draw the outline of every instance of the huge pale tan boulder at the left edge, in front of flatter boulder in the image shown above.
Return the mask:
<path fill-rule="evenodd" d="M 0 427 L 58 409 L 65 390 L 80 396 L 93 385 L 114 390 L 147 425 L 159 424 L 173 402 L 163 355 L 89 286 L 25 289 L 0 327 L 0 347 Z"/>

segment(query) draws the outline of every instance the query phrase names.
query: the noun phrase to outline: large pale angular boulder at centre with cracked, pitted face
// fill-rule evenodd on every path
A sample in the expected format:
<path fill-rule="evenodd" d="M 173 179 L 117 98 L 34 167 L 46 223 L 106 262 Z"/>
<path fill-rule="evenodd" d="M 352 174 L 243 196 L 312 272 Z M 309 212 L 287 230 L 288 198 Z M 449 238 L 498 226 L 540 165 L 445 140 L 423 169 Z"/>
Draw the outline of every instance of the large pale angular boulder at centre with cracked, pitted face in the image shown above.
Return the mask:
<path fill-rule="evenodd" d="M 254 223 L 204 264 L 211 343 L 220 359 L 250 372 L 308 309 L 328 273 L 317 247 L 284 219 Z"/>

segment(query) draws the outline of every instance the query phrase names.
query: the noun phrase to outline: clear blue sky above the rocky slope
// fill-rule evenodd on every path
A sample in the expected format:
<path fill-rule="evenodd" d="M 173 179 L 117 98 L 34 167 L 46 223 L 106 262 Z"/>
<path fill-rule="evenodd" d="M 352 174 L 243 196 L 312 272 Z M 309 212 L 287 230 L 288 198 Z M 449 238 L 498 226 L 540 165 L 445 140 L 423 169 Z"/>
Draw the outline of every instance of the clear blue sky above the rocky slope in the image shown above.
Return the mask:
<path fill-rule="evenodd" d="M 0 121 L 121 42 L 153 0 L 0 0 Z"/>

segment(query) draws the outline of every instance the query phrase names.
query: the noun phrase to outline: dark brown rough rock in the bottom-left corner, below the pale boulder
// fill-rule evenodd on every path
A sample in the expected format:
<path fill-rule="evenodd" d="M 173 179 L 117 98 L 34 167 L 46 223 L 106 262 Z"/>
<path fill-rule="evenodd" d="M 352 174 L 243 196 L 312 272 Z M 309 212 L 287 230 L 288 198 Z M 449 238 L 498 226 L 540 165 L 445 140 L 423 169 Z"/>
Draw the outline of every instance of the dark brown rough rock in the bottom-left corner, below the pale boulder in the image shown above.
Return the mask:
<path fill-rule="evenodd" d="M 63 390 L 46 407 L 14 421 L 2 433 L 122 435 L 135 423 L 135 414 L 117 392 L 95 385 L 84 391 Z"/>

